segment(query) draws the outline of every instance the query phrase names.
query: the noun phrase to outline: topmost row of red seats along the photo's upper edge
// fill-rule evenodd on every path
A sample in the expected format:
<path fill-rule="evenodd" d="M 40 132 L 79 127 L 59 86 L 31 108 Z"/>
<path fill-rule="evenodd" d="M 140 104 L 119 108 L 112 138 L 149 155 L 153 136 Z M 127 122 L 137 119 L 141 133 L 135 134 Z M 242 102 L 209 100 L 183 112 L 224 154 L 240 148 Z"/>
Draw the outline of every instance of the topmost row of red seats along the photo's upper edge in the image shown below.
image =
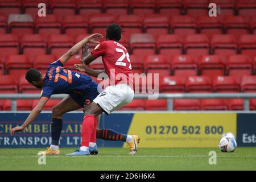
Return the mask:
<path fill-rule="evenodd" d="M 218 16 L 226 14 L 251 15 L 255 14 L 255 1 L 243 0 L 1 0 L 0 10 L 5 14 L 28 13 L 36 15 L 38 4 L 45 3 L 47 13 L 65 14 L 147 14 L 163 13 L 167 15 L 188 14 L 197 16 L 208 14 L 209 3 L 216 3 L 220 7 Z"/>

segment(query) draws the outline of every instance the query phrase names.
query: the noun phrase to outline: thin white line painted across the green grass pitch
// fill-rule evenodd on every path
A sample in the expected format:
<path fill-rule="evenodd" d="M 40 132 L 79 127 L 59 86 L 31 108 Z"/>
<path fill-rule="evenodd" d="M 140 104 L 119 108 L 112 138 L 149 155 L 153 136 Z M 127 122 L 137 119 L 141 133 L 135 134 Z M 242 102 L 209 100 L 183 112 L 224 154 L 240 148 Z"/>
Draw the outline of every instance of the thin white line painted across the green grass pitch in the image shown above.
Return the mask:
<path fill-rule="evenodd" d="M 95 158 L 209 158 L 208 155 L 129 155 L 129 156 L 113 156 L 113 155 L 90 155 Z M 39 156 L 0 156 L 0 158 L 39 158 Z M 47 155 L 47 158 L 86 158 L 86 156 L 63 156 L 63 155 Z M 217 158 L 255 158 L 250 155 L 220 155 Z"/>

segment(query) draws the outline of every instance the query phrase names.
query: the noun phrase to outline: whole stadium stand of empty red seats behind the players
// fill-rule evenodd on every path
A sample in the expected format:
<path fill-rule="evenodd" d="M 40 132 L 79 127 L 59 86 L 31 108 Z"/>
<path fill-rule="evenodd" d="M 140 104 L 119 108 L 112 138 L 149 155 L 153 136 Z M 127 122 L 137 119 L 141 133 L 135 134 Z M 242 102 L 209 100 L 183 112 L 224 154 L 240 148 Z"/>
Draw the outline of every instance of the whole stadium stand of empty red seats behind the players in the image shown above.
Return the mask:
<path fill-rule="evenodd" d="M 220 7 L 217 17 L 209 17 L 209 2 Z M 46 4 L 46 17 L 37 16 L 38 3 Z M 256 92 L 254 0 L 0 0 L 0 93 L 39 93 L 22 79 L 28 68 L 46 73 L 73 43 L 105 35 L 110 23 L 124 30 L 120 43 L 134 73 L 160 73 L 161 93 Z M 81 51 L 65 67 L 75 70 L 80 58 Z M 102 60 L 90 68 L 103 69 Z M 164 102 L 135 100 L 122 110 L 166 110 Z M 18 110 L 36 101 L 26 103 L 18 101 Z M 0 101 L 0 109 L 10 110 L 10 101 Z M 243 101 L 176 99 L 174 109 L 242 110 Z"/>

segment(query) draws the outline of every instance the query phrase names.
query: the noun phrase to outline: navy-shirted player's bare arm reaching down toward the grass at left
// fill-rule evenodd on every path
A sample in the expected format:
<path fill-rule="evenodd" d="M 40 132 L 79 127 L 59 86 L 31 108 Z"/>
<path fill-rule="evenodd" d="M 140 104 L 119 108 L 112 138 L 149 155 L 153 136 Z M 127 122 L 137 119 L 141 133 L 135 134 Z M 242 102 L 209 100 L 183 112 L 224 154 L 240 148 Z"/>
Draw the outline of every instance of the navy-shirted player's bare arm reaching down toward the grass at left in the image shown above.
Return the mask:
<path fill-rule="evenodd" d="M 38 104 L 34 107 L 34 109 L 31 111 L 30 115 L 28 115 L 26 121 L 21 125 L 14 127 L 13 129 L 10 130 L 10 134 L 13 135 L 15 132 L 21 132 L 23 129 L 29 125 L 38 115 L 41 113 L 43 110 L 43 107 L 46 105 L 46 102 L 48 100 L 45 98 L 41 98 Z"/>

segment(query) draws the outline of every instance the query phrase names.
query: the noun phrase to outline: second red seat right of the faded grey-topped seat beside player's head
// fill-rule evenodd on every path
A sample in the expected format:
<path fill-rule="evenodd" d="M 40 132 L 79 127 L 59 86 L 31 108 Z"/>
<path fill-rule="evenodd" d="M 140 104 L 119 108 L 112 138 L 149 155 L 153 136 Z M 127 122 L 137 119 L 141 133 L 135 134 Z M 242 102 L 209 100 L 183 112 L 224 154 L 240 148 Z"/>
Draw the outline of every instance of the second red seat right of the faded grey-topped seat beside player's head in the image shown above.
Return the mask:
<path fill-rule="evenodd" d="M 209 49 L 209 40 L 204 34 L 187 35 L 184 38 L 184 50 L 188 55 L 208 55 Z"/>

